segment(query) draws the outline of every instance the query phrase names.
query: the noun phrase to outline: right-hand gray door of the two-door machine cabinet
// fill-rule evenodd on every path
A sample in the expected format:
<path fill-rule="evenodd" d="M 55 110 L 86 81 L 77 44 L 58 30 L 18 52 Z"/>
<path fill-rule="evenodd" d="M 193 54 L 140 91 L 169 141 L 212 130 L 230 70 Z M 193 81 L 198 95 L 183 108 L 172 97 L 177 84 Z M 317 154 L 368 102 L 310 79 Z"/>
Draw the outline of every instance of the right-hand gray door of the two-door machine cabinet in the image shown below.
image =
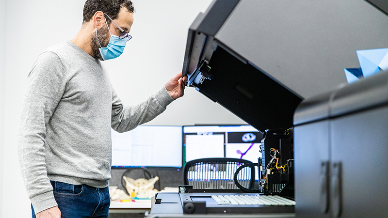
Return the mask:
<path fill-rule="evenodd" d="M 341 183 L 333 214 L 388 217 L 388 107 L 333 119 L 331 140 L 332 180 Z M 337 184 L 330 185 L 336 195 Z"/>

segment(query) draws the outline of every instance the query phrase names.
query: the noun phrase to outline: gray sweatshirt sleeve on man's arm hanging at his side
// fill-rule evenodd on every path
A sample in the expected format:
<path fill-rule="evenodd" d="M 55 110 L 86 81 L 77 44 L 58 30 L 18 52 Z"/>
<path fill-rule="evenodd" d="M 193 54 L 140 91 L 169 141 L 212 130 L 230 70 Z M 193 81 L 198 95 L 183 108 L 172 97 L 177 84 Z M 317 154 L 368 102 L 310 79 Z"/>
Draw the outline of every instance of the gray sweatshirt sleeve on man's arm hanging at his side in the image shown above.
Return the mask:
<path fill-rule="evenodd" d="M 47 176 L 46 127 L 65 91 L 65 71 L 59 57 L 42 53 L 27 80 L 18 128 L 18 156 L 27 194 L 35 213 L 57 205 Z"/>

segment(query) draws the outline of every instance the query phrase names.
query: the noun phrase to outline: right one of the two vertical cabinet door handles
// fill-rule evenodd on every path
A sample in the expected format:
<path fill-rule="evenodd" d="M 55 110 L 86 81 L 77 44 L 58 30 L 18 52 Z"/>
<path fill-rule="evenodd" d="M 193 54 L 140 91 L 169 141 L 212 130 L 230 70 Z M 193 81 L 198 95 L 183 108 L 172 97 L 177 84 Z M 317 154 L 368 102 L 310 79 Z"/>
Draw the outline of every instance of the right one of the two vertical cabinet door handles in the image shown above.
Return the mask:
<path fill-rule="evenodd" d="M 339 218 L 342 212 L 342 163 L 333 163 L 331 172 L 331 211 L 333 218 Z"/>

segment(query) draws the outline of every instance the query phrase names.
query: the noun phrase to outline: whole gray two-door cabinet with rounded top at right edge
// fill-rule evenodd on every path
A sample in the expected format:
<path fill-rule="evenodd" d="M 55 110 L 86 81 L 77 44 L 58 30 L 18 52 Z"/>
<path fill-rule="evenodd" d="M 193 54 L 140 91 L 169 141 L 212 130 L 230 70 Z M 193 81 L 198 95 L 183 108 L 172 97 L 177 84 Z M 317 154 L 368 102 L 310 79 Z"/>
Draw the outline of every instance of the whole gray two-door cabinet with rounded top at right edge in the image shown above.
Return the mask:
<path fill-rule="evenodd" d="M 294 125 L 297 217 L 388 217 L 388 72 L 303 101 Z"/>

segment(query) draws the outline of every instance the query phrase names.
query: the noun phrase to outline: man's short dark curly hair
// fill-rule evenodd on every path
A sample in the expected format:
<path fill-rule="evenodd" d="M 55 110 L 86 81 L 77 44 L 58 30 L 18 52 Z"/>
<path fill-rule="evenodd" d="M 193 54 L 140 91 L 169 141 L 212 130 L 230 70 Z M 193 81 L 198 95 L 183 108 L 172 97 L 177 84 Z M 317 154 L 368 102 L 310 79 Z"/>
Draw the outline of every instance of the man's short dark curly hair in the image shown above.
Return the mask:
<path fill-rule="evenodd" d="M 135 12 L 133 2 L 130 0 L 87 0 L 83 6 L 83 22 L 89 22 L 97 11 L 102 11 L 115 19 L 122 7 L 127 8 L 130 13 Z M 107 21 L 110 23 L 109 19 Z"/>

